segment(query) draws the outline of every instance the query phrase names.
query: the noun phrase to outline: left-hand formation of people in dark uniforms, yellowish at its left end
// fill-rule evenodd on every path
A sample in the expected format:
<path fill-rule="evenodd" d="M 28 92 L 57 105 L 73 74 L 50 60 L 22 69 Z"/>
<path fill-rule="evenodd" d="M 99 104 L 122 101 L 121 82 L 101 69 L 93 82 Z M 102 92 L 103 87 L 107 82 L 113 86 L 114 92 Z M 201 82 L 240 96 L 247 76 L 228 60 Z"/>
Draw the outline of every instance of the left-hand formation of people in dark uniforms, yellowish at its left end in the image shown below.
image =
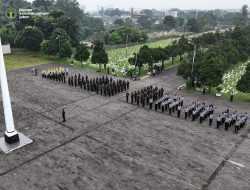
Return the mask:
<path fill-rule="evenodd" d="M 102 76 L 89 78 L 83 74 L 69 74 L 64 68 L 42 71 L 42 78 L 67 83 L 71 87 L 96 92 L 102 96 L 114 96 L 129 89 L 129 81 Z"/>

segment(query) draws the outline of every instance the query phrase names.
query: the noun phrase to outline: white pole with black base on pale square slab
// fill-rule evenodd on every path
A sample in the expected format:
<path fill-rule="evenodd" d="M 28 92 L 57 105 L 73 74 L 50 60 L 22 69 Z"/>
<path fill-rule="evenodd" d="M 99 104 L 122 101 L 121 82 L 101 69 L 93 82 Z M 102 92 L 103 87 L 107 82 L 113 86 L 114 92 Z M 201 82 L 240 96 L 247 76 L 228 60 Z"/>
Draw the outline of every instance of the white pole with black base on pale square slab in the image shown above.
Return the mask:
<path fill-rule="evenodd" d="M 24 145 L 32 143 L 32 140 L 25 137 L 22 133 L 17 132 L 15 129 L 1 39 L 0 39 L 0 84 L 2 92 L 3 109 L 4 109 L 5 127 L 6 127 L 4 137 L 0 139 L 0 148 L 5 153 L 9 153 L 15 149 L 21 148 Z"/>

